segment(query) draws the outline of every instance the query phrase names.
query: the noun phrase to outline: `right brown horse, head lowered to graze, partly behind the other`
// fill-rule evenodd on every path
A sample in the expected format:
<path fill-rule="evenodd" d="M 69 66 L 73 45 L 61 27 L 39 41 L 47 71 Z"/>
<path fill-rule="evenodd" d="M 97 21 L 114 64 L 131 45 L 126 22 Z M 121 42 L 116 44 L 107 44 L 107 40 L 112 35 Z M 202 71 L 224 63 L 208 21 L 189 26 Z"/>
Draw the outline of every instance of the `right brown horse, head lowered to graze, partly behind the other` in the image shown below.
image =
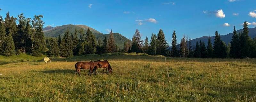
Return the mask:
<path fill-rule="evenodd" d="M 100 61 L 100 60 L 98 60 L 99 62 L 100 62 L 100 68 L 103 68 L 103 72 L 105 71 L 105 69 L 106 68 L 108 68 L 108 70 L 106 69 L 106 73 L 108 74 L 108 71 L 109 71 L 109 73 L 112 73 L 113 72 L 113 70 L 112 70 L 112 67 L 110 66 L 110 64 L 109 64 L 109 62 L 107 61 L 107 60 L 104 60 L 104 61 Z M 94 72 L 95 73 L 95 71 L 98 69 L 98 67 L 95 67 L 93 70 L 92 70 L 92 72 Z M 95 73 L 96 74 L 96 73 Z"/>

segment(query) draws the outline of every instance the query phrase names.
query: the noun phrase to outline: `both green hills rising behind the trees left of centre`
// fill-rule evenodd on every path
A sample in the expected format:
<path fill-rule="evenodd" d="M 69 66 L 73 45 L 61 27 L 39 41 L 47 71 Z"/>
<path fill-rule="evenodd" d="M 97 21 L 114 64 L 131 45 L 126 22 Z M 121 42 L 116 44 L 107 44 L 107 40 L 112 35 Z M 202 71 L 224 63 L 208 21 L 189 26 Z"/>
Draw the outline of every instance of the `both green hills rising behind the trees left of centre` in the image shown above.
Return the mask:
<path fill-rule="evenodd" d="M 88 30 L 88 26 L 86 26 L 86 25 L 72 25 L 72 24 L 69 24 L 69 25 L 62 25 L 62 26 L 56 26 L 56 27 L 46 26 L 45 28 L 43 28 L 43 32 L 44 32 L 44 35 L 47 36 L 47 37 L 58 37 L 59 35 L 63 36 L 67 29 L 69 29 L 69 31 L 71 33 L 73 33 L 75 31 L 75 28 L 77 28 L 77 30 L 82 28 L 84 30 L 84 33 L 86 33 L 86 31 Z M 110 34 L 103 34 L 103 33 L 100 33 L 99 31 L 97 31 L 97 30 L 95 30 L 91 27 L 89 27 L 89 28 L 92 31 L 92 33 L 94 34 L 97 41 L 99 39 L 101 39 L 101 41 L 103 41 L 104 37 L 109 38 Z M 129 39 L 127 39 L 126 37 L 124 37 L 123 35 L 121 35 L 119 33 L 113 33 L 113 35 L 114 35 L 114 38 L 115 38 L 116 45 L 119 48 L 123 48 L 124 42 L 129 40 Z M 80 34 L 78 34 L 78 36 L 80 36 Z"/>

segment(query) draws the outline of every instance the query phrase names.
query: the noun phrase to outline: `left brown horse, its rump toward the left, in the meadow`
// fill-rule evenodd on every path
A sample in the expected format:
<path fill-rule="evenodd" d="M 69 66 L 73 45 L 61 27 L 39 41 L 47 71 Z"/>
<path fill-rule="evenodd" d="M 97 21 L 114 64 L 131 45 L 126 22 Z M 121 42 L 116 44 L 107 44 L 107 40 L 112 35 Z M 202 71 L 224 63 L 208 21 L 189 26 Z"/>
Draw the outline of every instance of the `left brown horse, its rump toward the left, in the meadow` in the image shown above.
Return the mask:
<path fill-rule="evenodd" d="M 76 74 L 78 73 L 80 75 L 80 70 L 81 69 L 89 69 L 90 76 L 92 75 L 92 69 L 97 69 L 99 66 L 102 66 L 100 64 L 100 60 L 98 61 L 90 61 L 90 62 L 77 62 L 75 64 L 76 68 Z"/>

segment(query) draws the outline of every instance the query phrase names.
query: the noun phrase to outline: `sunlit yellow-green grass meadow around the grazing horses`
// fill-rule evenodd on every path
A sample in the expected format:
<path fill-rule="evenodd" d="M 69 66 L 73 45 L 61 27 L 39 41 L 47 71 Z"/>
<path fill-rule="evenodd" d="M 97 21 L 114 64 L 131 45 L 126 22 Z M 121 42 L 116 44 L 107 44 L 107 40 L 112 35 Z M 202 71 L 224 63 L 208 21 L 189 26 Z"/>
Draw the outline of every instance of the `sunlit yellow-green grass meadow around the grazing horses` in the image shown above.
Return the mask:
<path fill-rule="evenodd" d="M 99 59 L 109 61 L 112 74 L 75 75 L 77 61 Z M 46 65 L 1 60 L 6 60 L 0 65 L 1 102 L 256 101 L 255 59 L 105 54 L 53 58 Z"/>

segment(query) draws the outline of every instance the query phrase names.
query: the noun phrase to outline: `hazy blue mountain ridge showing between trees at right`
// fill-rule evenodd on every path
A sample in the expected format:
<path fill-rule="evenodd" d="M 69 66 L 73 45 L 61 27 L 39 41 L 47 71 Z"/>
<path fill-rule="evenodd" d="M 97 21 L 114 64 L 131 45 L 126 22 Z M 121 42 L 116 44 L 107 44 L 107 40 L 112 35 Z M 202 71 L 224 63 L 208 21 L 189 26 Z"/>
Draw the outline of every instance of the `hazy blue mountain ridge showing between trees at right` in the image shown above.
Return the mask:
<path fill-rule="evenodd" d="M 248 35 L 251 38 L 255 38 L 256 37 L 256 27 L 255 28 L 249 28 L 248 30 L 249 30 L 249 34 Z M 242 33 L 242 32 L 243 32 L 243 29 L 237 30 L 237 33 Z M 220 39 L 222 41 L 224 41 L 226 44 L 228 44 L 228 43 L 230 43 L 230 41 L 232 39 L 232 34 L 233 33 L 229 33 L 227 35 L 220 35 Z M 211 36 L 210 39 L 211 39 L 211 42 L 213 44 L 214 43 L 214 36 Z M 196 41 L 199 42 L 200 40 L 204 41 L 204 43 L 207 45 L 208 36 L 203 36 L 203 37 L 200 37 L 200 38 L 193 39 L 193 40 L 191 40 L 191 44 L 193 46 L 195 46 L 196 45 Z"/>

